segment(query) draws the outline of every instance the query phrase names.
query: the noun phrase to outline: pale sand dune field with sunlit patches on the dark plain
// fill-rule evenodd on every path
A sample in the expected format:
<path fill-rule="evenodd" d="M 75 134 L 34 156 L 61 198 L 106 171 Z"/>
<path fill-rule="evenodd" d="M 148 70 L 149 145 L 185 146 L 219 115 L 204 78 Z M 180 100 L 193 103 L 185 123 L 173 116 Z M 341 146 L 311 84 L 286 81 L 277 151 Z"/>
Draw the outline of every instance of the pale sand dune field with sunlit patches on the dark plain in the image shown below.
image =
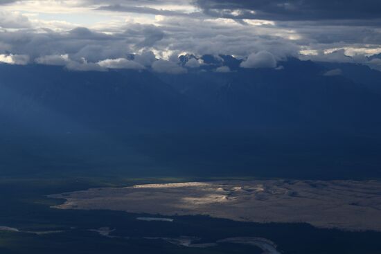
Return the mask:
<path fill-rule="evenodd" d="M 54 194 L 55 208 L 306 222 L 321 228 L 381 231 L 380 181 L 219 181 L 135 185 Z"/>

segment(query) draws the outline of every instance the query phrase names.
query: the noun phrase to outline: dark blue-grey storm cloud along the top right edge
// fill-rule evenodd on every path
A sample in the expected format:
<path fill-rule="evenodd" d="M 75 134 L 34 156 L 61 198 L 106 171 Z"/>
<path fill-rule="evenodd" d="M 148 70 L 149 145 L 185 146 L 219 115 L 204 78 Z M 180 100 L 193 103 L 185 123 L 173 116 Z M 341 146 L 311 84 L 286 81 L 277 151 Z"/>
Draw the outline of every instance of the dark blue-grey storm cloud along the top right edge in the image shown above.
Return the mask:
<path fill-rule="evenodd" d="M 196 0 L 207 15 L 274 21 L 378 19 L 380 0 Z"/>

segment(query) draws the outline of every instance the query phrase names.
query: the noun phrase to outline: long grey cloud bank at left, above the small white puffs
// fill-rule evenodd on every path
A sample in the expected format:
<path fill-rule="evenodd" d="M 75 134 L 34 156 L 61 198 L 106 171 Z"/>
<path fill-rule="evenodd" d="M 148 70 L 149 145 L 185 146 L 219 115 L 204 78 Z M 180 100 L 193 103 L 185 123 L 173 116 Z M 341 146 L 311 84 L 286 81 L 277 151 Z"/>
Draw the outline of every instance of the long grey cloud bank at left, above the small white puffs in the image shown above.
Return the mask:
<path fill-rule="evenodd" d="M 76 28 L 67 32 L 46 30 L 45 33 L 35 30 L 0 30 L 0 54 L 29 55 L 34 61 L 53 61 L 46 56 L 69 55 L 72 60 L 80 61 L 83 58 L 89 62 L 99 62 L 106 59 L 127 57 L 134 52 L 132 48 L 146 47 L 154 44 L 161 38 L 161 30 L 153 26 L 131 26 L 125 33 L 107 35 L 96 33 L 87 28 Z M 153 35 L 152 35 L 153 34 Z M 143 43 L 142 43 L 143 42 Z M 44 58 L 45 57 L 45 58 Z M 154 61 L 152 53 L 145 53 L 139 61 Z M 55 59 L 57 60 L 57 59 Z M 145 65 L 145 64 L 143 64 Z"/>

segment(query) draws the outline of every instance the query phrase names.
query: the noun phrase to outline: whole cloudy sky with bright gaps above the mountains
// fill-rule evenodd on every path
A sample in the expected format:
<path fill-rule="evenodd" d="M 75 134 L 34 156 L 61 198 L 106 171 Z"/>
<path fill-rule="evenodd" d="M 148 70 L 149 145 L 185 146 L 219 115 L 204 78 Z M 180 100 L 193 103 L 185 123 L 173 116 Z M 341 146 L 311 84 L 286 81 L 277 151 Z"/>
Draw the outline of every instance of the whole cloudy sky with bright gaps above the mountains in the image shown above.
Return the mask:
<path fill-rule="evenodd" d="M 381 1 L 0 0 L 0 62 L 102 71 L 161 59 L 173 68 L 185 53 L 381 70 L 381 60 L 369 58 L 381 53 Z"/>

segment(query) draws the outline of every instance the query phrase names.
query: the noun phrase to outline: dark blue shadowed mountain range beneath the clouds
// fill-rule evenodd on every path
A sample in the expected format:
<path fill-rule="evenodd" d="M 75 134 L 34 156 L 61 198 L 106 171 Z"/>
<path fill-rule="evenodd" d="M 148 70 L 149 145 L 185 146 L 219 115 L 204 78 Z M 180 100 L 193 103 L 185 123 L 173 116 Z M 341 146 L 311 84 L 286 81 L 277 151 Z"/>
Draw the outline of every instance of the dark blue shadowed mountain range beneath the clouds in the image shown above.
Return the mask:
<path fill-rule="evenodd" d="M 189 68 L 191 59 L 202 64 Z M 150 161 L 145 167 L 257 168 L 263 176 L 283 167 L 312 177 L 333 168 L 355 175 L 361 162 L 368 176 L 381 175 L 380 71 L 291 57 L 276 68 L 241 63 L 183 55 L 187 71 L 178 75 L 0 64 L 3 167 L 24 169 L 15 163 L 24 151 L 24 160 L 60 170 Z M 71 165 L 57 163 L 67 156 Z"/>

